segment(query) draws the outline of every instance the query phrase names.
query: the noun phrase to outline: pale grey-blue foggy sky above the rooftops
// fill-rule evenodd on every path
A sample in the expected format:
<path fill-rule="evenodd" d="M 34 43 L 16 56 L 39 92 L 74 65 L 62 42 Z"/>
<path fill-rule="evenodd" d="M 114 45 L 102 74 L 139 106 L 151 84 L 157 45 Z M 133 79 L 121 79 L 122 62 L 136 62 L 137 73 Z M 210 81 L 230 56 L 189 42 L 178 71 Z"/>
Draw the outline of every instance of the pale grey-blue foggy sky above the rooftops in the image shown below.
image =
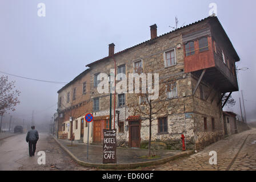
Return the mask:
<path fill-rule="evenodd" d="M 37 15 L 37 5 L 46 5 L 46 17 Z M 209 4 L 217 4 L 217 16 L 241 61 L 239 88 L 243 90 L 247 120 L 256 121 L 255 1 L 0 1 L 0 71 L 42 80 L 69 82 L 86 64 L 150 39 L 156 23 L 158 35 L 209 16 Z M 0 73 L 0 76 L 3 75 Z M 9 76 L 21 91 L 21 104 L 12 112 L 14 121 L 49 123 L 57 109 L 61 84 Z M 238 92 L 234 107 L 240 114 Z M 4 121 L 9 121 L 5 115 Z"/>

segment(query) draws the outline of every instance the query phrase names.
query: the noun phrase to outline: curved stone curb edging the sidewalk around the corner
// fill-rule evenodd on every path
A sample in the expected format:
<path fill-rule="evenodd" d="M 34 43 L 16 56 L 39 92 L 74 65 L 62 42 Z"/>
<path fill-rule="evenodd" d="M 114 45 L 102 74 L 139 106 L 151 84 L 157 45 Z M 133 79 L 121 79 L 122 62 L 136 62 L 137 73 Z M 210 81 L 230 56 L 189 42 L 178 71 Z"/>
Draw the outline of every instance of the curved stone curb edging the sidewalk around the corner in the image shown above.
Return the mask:
<path fill-rule="evenodd" d="M 53 137 L 53 135 L 51 135 Z M 163 159 L 158 159 L 158 160 L 151 160 L 147 162 L 139 162 L 139 163 L 125 163 L 125 164 L 95 164 L 95 163 L 86 163 L 83 162 L 82 160 L 79 160 L 74 154 L 72 154 L 66 147 L 63 146 L 55 137 L 53 137 L 54 140 L 61 146 L 63 150 L 67 152 L 71 156 L 75 162 L 80 164 L 81 166 L 85 167 L 95 167 L 95 168 L 102 168 L 102 169 L 133 169 L 137 167 L 146 167 L 146 166 L 152 166 L 152 165 L 159 165 L 159 164 L 164 164 L 166 162 L 170 162 L 171 160 L 175 160 L 178 158 L 182 158 L 184 156 L 189 156 L 191 154 L 194 154 L 194 151 L 185 151 L 185 152 L 179 152 L 177 155 L 170 156 L 167 158 Z"/>

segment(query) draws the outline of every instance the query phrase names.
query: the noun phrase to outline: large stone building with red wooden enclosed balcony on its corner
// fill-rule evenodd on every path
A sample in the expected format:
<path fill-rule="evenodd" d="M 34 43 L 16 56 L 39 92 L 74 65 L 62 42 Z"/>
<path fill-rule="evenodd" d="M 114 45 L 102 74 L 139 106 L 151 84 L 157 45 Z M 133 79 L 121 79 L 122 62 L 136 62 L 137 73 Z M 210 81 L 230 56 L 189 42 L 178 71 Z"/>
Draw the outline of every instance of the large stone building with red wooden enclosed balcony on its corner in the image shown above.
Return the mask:
<path fill-rule="evenodd" d="M 200 149 L 221 139 L 222 97 L 238 91 L 235 62 L 240 59 L 218 18 L 209 16 L 161 36 L 157 36 L 154 24 L 150 35 L 150 40 L 117 53 L 111 43 L 109 56 L 86 65 L 90 68 L 86 75 L 92 84 L 88 97 L 94 115 L 90 142 L 101 143 L 102 129 L 110 127 L 110 94 L 98 92 L 100 73 L 123 73 L 113 80 L 117 89 L 135 68 L 158 73 L 160 87 L 166 87 L 159 104 L 167 106 L 153 115 L 152 141 L 180 150 L 181 134 L 188 149 Z M 128 92 L 112 94 L 111 128 L 117 129 L 119 146 L 141 147 L 149 140 L 149 120 L 127 106 L 143 100 L 137 96 Z"/>

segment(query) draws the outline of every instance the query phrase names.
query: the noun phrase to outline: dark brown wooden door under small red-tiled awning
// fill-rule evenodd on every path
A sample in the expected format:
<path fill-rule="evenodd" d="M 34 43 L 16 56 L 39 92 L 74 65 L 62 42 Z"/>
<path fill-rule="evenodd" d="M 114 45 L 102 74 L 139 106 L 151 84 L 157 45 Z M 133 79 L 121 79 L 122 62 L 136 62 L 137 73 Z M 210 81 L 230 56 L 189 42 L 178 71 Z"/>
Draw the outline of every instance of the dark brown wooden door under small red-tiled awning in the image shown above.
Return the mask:
<path fill-rule="evenodd" d="M 139 121 L 129 121 L 129 145 L 130 147 L 141 147 L 141 128 Z"/>

